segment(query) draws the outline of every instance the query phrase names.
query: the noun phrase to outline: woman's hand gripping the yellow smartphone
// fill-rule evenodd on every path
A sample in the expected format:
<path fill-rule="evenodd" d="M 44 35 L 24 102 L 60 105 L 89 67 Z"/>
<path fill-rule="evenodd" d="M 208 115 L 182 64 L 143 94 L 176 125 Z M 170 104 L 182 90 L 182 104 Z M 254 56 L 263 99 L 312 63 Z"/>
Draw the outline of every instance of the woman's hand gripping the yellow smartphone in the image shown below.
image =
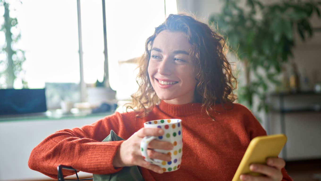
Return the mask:
<path fill-rule="evenodd" d="M 281 181 L 283 178 L 281 169 L 285 166 L 285 161 L 281 158 L 268 158 L 267 165 L 251 164 L 250 170 L 261 173 L 265 176 L 241 175 L 241 180 L 246 181 Z"/>

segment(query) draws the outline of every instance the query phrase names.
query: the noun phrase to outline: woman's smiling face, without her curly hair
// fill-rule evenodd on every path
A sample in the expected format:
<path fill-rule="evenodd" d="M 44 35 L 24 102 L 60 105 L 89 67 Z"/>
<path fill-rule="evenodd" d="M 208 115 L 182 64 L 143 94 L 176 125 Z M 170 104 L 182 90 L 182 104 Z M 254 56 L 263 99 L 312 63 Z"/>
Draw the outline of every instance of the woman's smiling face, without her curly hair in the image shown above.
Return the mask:
<path fill-rule="evenodd" d="M 169 104 L 194 102 L 195 66 L 192 45 L 183 32 L 162 31 L 152 45 L 148 74 L 157 96 Z"/>

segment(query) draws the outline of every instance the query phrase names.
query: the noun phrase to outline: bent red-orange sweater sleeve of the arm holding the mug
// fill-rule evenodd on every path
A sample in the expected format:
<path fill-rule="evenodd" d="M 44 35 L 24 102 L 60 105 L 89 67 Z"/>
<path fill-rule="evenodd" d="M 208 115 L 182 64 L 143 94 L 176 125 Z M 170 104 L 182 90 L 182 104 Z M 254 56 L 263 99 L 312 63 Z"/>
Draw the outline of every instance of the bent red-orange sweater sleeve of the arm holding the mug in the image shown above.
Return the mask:
<path fill-rule="evenodd" d="M 123 141 L 101 141 L 111 129 L 119 134 L 125 132 L 124 127 L 121 115 L 116 112 L 82 128 L 56 131 L 31 151 L 28 165 L 55 179 L 58 165 L 93 174 L 115 173 L 121 168 L 114 168 L 112 161 Z M 63 170 L 64 176 L 74 173 Z"/>

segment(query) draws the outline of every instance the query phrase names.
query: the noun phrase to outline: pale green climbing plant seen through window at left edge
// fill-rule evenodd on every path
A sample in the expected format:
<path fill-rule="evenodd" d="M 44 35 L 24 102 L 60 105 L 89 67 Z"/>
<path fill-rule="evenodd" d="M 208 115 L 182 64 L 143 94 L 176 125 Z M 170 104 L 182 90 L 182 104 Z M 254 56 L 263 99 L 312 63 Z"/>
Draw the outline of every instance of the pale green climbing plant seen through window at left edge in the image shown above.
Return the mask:
<path fill-rule="evenodd" d="M 0 71 L 0 80 L 4 79 L 4 83 L 0 84 L 0 88 L 13 88 L 14 80 L 18 77 L 22 80 L 24 88 L 28 87 L 27 82 L 23 79 L 22 63 L 26 60 L 24 51 L 21 49 L 15 49 L 14 45 L 20 40 L 21 34 L 14 35 L 11 30 L 18 24 L 17 18 L 10 17 L 9 3 L 4 0 L 0 0 L 0 7 L 4 8 L 4 24 L 1 25 L 0 31 L 5 33 L 5 44 L 0 50 L 0 54 L 4 57 L 0 59 L 0 68 L 6 67 L 3 71 Z"/>

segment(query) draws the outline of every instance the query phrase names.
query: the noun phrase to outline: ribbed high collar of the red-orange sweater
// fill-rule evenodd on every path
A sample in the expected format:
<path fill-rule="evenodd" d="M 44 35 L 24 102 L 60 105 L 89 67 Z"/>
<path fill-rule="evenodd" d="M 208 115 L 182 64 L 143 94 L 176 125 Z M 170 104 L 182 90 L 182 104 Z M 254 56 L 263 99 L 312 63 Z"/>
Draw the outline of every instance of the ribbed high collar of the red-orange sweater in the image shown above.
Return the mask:
<path fill-rule="evenodd" d="M 202 110 L 201 103 L 187 103 L 187 104 L 168 104 L 163 100 L 160 101 L 159 109 L 168 115 L 193 115 L 193 114 L 200 114 Z"/>

